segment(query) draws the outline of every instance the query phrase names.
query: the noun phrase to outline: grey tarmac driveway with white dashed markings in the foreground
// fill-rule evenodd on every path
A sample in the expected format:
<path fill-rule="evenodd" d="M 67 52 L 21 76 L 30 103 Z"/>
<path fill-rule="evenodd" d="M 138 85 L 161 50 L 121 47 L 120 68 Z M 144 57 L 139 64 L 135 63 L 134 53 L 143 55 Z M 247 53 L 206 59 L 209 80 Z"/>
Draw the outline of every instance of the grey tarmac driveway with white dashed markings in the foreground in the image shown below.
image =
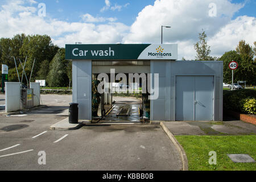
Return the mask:
<path fill-rule="evenodd" d="M 0 133 L 0 170 L 182 169 L 176 147 L 159 125 L 86 125 L 79 130 L 46 130 L 36 138 L 32 137 L 45 128 L 39 132 L 26 125 Z M 20 145 L 1 151 L 15 144 Z M 22 151 L 28 152 L 9 156 Z M 38 164 L 39 151 L 46 152 L 46 165 Z"/>

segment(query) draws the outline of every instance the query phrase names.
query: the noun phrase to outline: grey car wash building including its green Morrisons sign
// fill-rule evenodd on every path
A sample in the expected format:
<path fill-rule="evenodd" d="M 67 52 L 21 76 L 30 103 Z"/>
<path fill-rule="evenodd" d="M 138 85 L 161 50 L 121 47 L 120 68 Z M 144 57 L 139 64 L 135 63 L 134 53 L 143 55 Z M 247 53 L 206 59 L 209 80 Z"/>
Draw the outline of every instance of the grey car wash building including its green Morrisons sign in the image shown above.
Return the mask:
<path fill-rule="evenodd" d="M 150 121 L 222 121 L 222 61 L 178 61 L 177 44 L 67 44 L 65 48 L 65 59 L 72 60 L 72 99 L 79 104 L 81 120 L 92 120 L 92 75 L 105 73 L 110 77 L 105 83 L 112 83 L 120 80 L 119 73 L 138 73 L 147 75 L 147 90 L 152 88 Z M 112 102 L 111 92 L 104 96 Z"/>

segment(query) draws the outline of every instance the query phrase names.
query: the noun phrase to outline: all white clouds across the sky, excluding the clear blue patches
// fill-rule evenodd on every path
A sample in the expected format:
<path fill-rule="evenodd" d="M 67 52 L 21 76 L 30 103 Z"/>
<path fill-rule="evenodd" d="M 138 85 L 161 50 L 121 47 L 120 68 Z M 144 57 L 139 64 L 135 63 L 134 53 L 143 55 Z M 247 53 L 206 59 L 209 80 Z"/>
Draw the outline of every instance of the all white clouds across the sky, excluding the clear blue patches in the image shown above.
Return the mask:
<path fill-rule="evenodd" d="M 256 40 L 255 17 L 240 16 L 232 20 L 243 5 L 228 0 L 156 0 L 153 6 L 144 7 L 131 27 L 117 22 L 116 18 L 90 14 L 81 16 L 84 22 L 73 23 L 39 17 L 36 7 L 25 6 L 34 2 L 11 0 L 0 7 L 0 37 L 12 38 L 20 33 L 47 34 L 61 47 L 75 42 L 159 44 L 161 25 L 164 25 L 171 28 L 163 29 L 163 42 L 178 44 L 179 59 L 195 59 L 193 44 L 202 28 L 208 35 L 212 56 L 221 56 L 225 51 L 235 49 L 242 39 L 251 46 Z M 208 15 L 209 3 L 216 3 L 216 17 Z M 112 7 L 110 1 L 106 1 L 106 7 Z"/>

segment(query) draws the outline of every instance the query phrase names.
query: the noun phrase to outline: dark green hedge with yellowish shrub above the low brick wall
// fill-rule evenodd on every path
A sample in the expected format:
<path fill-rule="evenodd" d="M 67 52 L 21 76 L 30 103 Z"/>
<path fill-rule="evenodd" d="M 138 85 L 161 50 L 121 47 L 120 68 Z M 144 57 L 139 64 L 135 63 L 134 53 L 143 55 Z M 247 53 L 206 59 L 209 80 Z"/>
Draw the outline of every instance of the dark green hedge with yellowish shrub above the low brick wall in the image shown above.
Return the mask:
<path fill-rule="evenodd" d="M 223 90 L 223 108 L 246 114 L 256 114 L 256 90 Z"/>

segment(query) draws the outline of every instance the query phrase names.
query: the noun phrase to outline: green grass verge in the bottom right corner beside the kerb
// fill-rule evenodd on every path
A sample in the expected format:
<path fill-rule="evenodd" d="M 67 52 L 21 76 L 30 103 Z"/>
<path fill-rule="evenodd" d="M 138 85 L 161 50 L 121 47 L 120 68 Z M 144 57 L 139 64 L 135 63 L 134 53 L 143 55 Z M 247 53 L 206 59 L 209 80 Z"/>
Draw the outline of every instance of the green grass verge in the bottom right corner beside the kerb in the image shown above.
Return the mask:
<path fill-rule="evenodd" d="M 256 135 L 175 136 L 184 148 L 191 171 L 256 171 L 256 163 L 233 163 L 226 154 L 249 154 L 256 159 Z M 210 165 L 210 151 L 217 154 L 217 164 Z"/>

